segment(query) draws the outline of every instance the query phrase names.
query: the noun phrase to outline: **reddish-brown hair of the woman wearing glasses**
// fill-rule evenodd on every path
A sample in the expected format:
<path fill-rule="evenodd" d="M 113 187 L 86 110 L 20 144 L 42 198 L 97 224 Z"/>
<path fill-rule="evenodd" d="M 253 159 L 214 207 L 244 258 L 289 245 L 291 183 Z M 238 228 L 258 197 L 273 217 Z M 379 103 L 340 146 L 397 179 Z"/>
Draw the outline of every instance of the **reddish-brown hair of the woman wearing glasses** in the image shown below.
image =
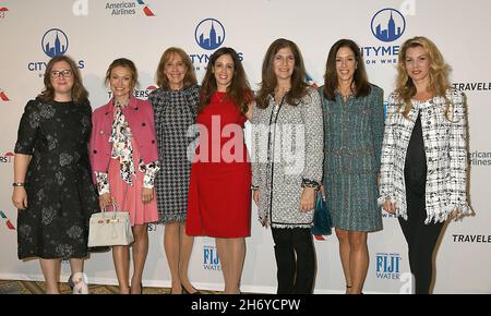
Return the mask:
<path fill-rule="evenodd" d="M 85 89 L 82 83 L 82 75 L 80 73 L 79 68 L 76 66 L 73 59 L 68 56 L 56 56 L 51 58 L 51 60 L 46 65 L 45 71 L 45 88 L 37 96 L 43 101 L 52 101 L 55 99 L 55 88 L 51 84 L 51 70 L 55 66 L 55 63 L 64 61 L 70 65 L 70 70 L 73 75 L 73 87 L 72 87 L 72 101 L 75 104 L 83 104 L 88 101 L 88 92 Z"/>

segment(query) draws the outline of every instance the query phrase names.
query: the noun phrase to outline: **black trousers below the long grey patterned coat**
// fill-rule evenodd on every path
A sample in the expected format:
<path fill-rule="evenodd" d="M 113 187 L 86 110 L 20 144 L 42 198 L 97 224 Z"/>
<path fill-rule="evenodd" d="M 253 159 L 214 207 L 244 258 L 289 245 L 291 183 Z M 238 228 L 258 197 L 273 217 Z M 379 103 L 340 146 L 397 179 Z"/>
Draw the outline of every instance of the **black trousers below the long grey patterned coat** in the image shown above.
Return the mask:
<path fill-rule="evenodd" d="M 275 242 L 278 294 L 311 294 L 315 251 L 309 228 L 272 228 Z"/>

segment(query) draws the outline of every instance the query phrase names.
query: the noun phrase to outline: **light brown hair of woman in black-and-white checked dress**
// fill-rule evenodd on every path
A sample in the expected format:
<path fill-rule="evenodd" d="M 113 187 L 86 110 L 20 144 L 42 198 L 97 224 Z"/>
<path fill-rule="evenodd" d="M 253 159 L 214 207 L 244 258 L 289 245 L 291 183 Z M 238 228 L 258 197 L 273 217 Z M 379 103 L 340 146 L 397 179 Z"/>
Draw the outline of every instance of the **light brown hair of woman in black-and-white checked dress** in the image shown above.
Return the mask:
<path fill-rule="evenodd" d="M 166 62 L 168 62 L 173 56 L 179 56 L 182 59 L 182 62 L 185 66 L 185 75 L 184 82 L 182 85 L 182 89 L 187 89 L 197 83 L 196 75 L 194 73 L 194 68 L 189 58 L 188 53 L 184 50 L 178 47 L 170 47 L 164 51 L 160 58 L 160 62 L 158 63 L 157 73 L 155 74 L 157 78 L 157 85 L 165 90 L 170 90 L 169 80 L 167 75 L 164 73 L 164 69 L 166 68 Z"/>

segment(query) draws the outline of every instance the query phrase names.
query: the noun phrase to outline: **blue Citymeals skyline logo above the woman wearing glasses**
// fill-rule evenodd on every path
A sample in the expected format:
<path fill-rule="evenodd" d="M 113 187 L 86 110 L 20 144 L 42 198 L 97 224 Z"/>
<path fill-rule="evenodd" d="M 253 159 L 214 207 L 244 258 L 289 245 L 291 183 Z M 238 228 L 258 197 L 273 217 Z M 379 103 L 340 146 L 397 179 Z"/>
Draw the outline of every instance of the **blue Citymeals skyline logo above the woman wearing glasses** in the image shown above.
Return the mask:
<path fill-rule="evenodd" d="M 69 37 L 60 28 L 50 28 L 43 35 L 40 46 L 45 54 L 49 58 L 63 56 L 69 49 Z M 85 68 L 84 60 L 75 60 L 75 63 L 79 69 Z M 43 77 L 47 64 L 47 61 L 31 61 L 27 63 L 27 70 L 36 72 L 39 77 Z"/>

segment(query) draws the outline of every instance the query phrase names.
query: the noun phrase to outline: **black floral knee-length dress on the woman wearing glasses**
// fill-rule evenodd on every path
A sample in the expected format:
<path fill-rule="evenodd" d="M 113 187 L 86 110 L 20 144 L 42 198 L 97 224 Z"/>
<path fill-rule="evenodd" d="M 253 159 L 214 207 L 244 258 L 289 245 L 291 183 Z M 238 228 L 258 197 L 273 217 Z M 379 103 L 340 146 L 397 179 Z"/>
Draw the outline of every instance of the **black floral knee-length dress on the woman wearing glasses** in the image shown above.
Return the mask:
<path fill-rule="evenodd" d="M 91 179 L 88 102 L 27 102 L 15 154 L 32 155 L 25 178 L 27 208 L 19 210 L 17 255 L 83 258 L 88 219 L 98 211 Z"/>

